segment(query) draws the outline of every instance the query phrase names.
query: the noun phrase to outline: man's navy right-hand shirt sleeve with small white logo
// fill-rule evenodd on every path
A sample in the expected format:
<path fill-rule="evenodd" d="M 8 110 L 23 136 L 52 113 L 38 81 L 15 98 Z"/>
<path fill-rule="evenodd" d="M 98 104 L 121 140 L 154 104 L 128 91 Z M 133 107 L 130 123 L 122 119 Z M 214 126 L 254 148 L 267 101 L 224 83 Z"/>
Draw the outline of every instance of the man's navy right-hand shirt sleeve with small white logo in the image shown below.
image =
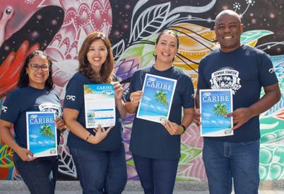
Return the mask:
<path fill-rule="evenodd" d="M 259 79 L 261 82 L 261 86 L 264 87 L 278 83 L 276 73 L 273 69 L 273 64 L 271 62 L 271 59 L 269 59 L 269 57 L 266 55 L 266 53 L 263 53 L 261 55 Z"/>

